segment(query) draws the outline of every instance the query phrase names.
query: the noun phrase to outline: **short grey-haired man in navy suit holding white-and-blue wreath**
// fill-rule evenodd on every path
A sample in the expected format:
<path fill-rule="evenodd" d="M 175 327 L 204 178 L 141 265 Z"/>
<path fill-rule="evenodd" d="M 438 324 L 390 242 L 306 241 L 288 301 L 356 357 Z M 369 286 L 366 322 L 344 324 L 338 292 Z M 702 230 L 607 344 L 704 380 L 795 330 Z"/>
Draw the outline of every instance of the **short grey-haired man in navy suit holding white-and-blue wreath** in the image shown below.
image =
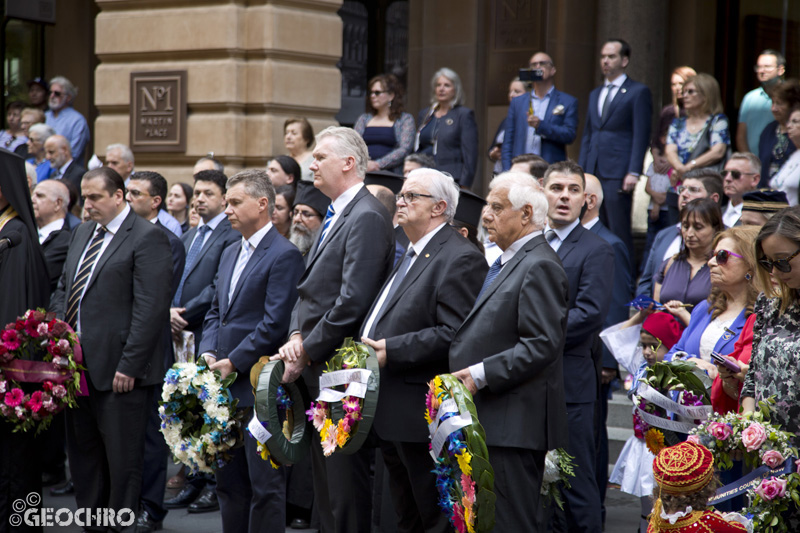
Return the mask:
<path fill-rule="evenodd" d="M 200 353 L 231 386 L 247 422 L 253 417 L 250 369 L 286 338 L 303 256 L 272 226 L 275 188 L 266 171 L 243 170 L 227 184 L 225 213 L 242 234 L 225 249 L 203 325 Z M 286 530 L 286 471 L 273 469 L 256 451 L 255 439 L 231 450 L 231 461 L 217 470 L 217 495 L 225 533 Z"/>

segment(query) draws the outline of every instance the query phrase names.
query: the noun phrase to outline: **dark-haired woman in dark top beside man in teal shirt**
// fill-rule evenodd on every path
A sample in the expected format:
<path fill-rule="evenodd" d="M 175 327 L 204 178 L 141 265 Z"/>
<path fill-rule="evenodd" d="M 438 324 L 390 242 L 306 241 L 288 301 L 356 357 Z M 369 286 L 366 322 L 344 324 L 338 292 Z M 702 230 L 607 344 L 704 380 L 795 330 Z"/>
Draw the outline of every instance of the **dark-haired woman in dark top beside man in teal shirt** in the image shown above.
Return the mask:
<path fill-rule="evenodd" d="M 758 158 L 761 159 L 761 183 L 766 185 L 770 178 L 789 159 L 797 147 L 789 140 L 788 125 L 792 108 L 800 104 L 800 82 L 786 80 L 778 82 L 770 91 L 772 96 L 772 116 L 761 132 L 758 141 Z"/>

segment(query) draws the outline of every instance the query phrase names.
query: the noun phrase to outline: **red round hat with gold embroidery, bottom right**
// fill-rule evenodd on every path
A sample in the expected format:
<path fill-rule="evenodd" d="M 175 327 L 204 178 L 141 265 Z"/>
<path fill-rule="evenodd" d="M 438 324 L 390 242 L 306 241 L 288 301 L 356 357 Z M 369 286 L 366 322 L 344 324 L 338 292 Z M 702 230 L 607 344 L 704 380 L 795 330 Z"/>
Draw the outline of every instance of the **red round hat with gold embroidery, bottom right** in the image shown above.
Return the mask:
<path fill-rule="evenodd" d="M 697 492 L 711 481 L 714 456 L 705 446 L 681 442 L 664 448 L 653 460 L 653 475 L 662 492 Z"/>

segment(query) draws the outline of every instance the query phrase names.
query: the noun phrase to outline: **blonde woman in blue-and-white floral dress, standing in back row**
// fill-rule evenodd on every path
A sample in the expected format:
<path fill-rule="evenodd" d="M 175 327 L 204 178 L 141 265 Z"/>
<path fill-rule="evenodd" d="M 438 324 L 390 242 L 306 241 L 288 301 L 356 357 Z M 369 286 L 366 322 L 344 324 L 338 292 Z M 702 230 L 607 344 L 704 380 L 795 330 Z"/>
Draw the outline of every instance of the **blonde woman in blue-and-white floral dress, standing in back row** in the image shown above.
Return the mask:
<path fill-rule="evenodd" d="M 672 166 L 670 179 L 673 186 L 678 185 L 690 170 L 711 166 L 721 168 L 731 143 L 717 80 L 702 73 L 690 76 L 681 95 L 686 117 L 672 121 L 664 149 Z"/>

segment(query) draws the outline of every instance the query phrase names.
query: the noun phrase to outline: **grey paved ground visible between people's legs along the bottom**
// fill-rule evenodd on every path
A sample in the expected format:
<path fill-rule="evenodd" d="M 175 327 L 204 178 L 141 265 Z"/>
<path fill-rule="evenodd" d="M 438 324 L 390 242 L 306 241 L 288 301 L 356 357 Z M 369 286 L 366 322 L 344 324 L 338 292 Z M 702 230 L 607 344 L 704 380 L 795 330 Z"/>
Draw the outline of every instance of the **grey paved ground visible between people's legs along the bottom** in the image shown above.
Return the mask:
<path fill-rule="evenodd" d="M 175 471 L 177 471 L 177 467 L 172 466 L 170 475 L 173 475 Z M 52 509 L 68 508 L 74 511 L 76 509 L 75 498 L 54 498 L 50 496 L 49 490 L 45 489 L 43 507 Z M 608 533 L 634 533 L 637 531 L 639 525 L 638 498 L 621 493 L 616 489 L 609 489 L 606 496 L 606 509 L 606 531 Z M 67 527 L 45 527 L 44 530 L 53 533 L 80 533 L 81 531 L 74 524 Z M 167 533 L 218 533 L 222 531 L 222 522 L 219 512 L 189 514 L 186 510 L 174 510 L 167 515 L 162 531 Z M 291 533 L 312 533 L 315 530 L 287 528 L 286 531 Z"/>

